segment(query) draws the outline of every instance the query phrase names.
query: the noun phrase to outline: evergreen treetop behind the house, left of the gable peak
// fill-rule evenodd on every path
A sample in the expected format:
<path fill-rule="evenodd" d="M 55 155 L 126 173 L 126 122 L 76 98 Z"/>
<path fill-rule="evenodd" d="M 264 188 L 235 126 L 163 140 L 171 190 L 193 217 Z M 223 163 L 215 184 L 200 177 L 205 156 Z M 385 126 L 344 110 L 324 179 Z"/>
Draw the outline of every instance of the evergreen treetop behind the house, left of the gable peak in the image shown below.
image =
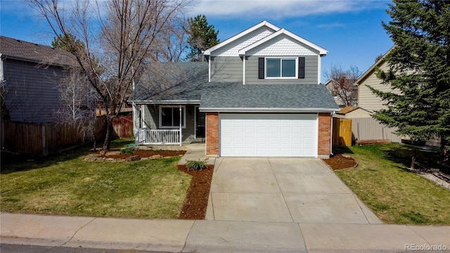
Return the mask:
<path fill-rule="evenodd" d="M 205 15 L 198 15 L 195 18 L 188 18 L 188 44 L 191 52 L 188 59 L 191 61 L 202 61 L 203 51 L 219 44 L 217 34 L 214 30 L 214 25 L 208 25 Z"/>

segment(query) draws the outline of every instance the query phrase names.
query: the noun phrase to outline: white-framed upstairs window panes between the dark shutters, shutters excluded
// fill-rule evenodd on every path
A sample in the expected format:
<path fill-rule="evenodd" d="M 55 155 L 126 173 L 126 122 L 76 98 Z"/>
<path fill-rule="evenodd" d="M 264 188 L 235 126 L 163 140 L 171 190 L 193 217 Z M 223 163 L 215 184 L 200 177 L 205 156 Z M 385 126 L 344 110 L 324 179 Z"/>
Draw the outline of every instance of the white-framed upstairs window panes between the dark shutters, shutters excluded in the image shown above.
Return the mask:
<path fill-rule="evenodd" d="M 297 78 L 297 59 L 266 58 L 266 78 Z"/>

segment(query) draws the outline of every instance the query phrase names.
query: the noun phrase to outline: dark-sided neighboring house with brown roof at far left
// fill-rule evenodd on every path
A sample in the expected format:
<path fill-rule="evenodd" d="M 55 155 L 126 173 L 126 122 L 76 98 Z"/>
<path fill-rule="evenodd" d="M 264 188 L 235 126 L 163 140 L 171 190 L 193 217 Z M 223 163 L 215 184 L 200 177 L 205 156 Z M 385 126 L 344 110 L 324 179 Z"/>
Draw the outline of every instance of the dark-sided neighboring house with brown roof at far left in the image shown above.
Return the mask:
<path fill-rule="evenodd" d="M 65 68 L 75 64 L 72 54 L 0 36 L 0 81 L 9 118 L 17 122 L 47 123 L 58 108 L 56 86 Z"/>

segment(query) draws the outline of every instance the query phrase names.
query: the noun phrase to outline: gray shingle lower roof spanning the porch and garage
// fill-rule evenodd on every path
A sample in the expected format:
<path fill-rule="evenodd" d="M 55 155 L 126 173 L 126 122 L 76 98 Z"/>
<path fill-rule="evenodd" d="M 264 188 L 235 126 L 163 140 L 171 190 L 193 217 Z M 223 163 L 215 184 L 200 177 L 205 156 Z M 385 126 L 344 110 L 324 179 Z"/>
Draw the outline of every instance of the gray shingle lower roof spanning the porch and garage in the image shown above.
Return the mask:
<path fill-rule="evenodd" d="M 208 82 L 207 63 L 154 63 L 128 99 L 139 103 L 177 100 L 200 108 L 278 108 L 338 110 L 321 84 L 247 84 Z"/>

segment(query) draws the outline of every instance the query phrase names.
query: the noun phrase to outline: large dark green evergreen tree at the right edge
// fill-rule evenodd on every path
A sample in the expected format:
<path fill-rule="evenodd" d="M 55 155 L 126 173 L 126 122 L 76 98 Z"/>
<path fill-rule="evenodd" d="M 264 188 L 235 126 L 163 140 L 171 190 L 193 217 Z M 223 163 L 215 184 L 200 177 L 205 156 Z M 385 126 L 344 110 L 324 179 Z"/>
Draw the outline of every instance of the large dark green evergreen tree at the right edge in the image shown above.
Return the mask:
<path fill-rule="evenodd" d="M 387 105 L 373 117 L 413 140 L 440 137 L 449 161 L 450 1 L 394 0 L 387 13 L 394 47 L 385 58 L 390 70 L 377 76 L 392 91 L 371 88 Z"/>

